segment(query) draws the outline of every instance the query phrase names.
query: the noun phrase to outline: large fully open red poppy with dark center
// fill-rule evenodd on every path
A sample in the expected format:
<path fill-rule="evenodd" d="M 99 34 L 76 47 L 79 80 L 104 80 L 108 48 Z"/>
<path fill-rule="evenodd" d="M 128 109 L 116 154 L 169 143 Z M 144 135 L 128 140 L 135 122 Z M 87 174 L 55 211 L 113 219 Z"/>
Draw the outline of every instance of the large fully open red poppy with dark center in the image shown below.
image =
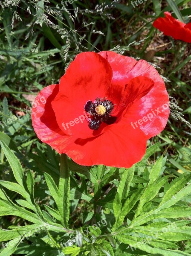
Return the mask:
<path fill-rule="evenodd" d="M 60 84 L 38 94 L 32 123 L 41 141 L 78 164 L 128 168 L 165 128 L 168 105 L 165 84 L 146 61 L 83 52 Z"/>

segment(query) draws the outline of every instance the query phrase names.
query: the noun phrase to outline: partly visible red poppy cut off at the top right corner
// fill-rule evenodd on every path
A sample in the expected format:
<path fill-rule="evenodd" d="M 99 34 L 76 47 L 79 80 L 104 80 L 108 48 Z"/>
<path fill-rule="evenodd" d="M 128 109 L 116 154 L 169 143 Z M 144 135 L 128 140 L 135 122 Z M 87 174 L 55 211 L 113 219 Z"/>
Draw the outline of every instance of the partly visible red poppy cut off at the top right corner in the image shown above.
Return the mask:
<path fill-rule="evenodd" d="M 153 22 L 153 26 L 174 39 L 191 43 L 191 22 L 185 24 L 171 16 L 170 12 L 165 12 L 165 17 L 159 17 Z"/>

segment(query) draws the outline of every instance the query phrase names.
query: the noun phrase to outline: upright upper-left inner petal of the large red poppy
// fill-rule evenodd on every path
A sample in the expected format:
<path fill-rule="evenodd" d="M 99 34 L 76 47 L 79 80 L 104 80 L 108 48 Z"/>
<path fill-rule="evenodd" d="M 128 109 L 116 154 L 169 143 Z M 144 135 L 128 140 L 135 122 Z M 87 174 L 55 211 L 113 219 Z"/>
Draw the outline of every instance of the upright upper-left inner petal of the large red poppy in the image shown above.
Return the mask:
<path fill-rule="evenodd" d="M 110 91 L 111 79 L 110 64 L 99 54 L 83 52 L 76 56 L 62 76 L 59 92 L 52 102 L 57 123 L 64 133 L 88 138 L 101 132 L 88 127 L 84 105 L 88 100 L 104 98 Z"/>

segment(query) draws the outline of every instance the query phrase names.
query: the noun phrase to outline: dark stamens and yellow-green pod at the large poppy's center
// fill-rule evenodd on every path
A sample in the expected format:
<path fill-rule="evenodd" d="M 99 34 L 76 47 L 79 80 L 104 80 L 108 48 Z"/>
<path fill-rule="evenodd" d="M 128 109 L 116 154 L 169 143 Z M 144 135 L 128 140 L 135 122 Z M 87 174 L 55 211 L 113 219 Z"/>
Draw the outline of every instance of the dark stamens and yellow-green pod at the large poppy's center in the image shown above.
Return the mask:
<path fill-rule="evenodd" d="M 113 108 L 113 103 L 106 98 L 96 98 L 94 102 L 87 101 L 84 109 L 90 114 L 90 118 L 87 119 L 90 129 L 98 130 L 101 122 L 105 122 L 107 125 L 113 124 L 117 119 L 115 116 L 111 116 Z"/>

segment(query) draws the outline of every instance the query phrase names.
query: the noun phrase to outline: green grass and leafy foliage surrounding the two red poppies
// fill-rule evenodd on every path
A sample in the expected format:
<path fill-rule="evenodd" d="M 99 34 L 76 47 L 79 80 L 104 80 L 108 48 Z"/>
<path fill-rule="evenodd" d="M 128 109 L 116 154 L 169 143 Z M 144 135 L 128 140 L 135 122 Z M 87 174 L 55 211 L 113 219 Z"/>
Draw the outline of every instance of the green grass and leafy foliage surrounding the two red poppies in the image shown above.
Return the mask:
<path fill-rule="evenodd" d="M 152 26 L 164 11 L 188 23 L 190 1 L 147 0 L 133 8 L 130 1 L 78 0 L 65 9 L 57 0 L 4 0 L 0 6 L 0 256 L 190 255 L 185 123 L 170 118 L 130 169 L 89 168 L 41 143 L 29 110 L 76 54 L 114 49 L 157 65 L 190 121 L 191 45 Z"/>

